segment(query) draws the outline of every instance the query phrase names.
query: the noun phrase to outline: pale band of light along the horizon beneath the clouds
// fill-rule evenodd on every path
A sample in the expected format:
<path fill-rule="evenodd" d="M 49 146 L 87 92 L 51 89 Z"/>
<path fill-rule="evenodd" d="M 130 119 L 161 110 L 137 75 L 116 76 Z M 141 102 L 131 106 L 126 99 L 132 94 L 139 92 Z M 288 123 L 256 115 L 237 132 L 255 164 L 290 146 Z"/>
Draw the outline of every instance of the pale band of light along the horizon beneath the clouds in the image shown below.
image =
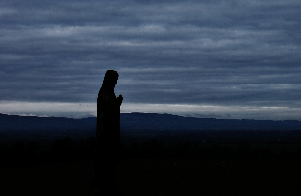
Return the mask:
<path fill-rule="evenodd" d="M 96 116 L 96 103 L 0 101 L 0 113 L 28 116 L 86 118 Z M 301 120 L 301 108 L 220 106 L 192 104 L 122 103 L 121 113 L 168 113 L 179 116 L 211 116 L 218 119 Z"/>

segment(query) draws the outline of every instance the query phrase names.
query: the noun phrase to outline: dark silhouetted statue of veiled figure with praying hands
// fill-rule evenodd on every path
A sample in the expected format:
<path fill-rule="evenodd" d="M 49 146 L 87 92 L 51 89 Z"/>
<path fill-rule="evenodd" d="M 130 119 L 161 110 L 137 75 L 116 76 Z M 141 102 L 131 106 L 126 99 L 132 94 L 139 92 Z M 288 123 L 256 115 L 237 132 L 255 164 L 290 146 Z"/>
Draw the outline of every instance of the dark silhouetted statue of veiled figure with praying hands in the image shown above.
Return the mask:
<path fill-rule="evenodd" d="M 114 93 L 118 73 L 108 70 L 97 98 L 96 148 L 91 179 L 91 196 L 114 195 L 115 170 L 119 159 L 120 106 L 122 95 Z"/>

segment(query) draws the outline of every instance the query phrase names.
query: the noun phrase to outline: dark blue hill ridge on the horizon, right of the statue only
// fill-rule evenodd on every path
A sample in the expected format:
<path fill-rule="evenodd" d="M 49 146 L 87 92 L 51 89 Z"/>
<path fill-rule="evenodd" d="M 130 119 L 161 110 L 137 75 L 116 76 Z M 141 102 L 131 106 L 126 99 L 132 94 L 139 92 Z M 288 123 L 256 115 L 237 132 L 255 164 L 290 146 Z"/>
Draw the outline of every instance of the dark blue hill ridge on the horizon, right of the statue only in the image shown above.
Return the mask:
<path fill-rule="evenodd" d="M 120 126 L 124 129 L 161 130 L 296 130 L 301 121 L 237 120 L 193 118 L 157 113 L 123 113 Z"/>

